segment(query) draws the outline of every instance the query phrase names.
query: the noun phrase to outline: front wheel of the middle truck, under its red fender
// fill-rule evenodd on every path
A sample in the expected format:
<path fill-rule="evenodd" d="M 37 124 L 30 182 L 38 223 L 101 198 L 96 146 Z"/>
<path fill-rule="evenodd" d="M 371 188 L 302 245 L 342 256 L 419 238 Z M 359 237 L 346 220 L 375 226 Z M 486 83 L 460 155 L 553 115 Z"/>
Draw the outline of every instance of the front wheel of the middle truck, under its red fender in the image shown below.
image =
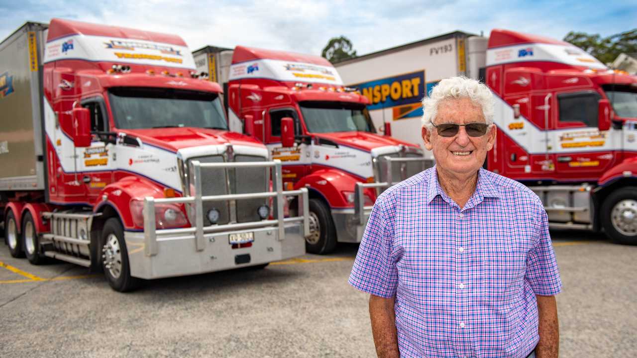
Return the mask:
<path fill-rule="evenodd" d="M 310 236 L 305 250 L 311 254 L 329 254 L 336 247 L 336 229 L 329 208 L 320 199 L 310 199 Z"/>

